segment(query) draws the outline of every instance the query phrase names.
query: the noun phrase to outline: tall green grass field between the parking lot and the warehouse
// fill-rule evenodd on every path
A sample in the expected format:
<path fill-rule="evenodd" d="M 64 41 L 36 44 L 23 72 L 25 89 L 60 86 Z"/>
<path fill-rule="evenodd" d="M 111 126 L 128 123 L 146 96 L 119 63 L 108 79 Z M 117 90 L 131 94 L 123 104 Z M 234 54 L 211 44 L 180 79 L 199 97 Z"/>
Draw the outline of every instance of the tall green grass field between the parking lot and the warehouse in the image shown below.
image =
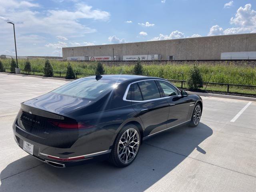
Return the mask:
<path fill-rule="evenodd" d="M 4 68 L 10 68 L 10 60 L 1 60 Z M 18 60 L 19 67 L 24 68 L 26 60 Z M 43 70 L 43 59 L 30 60 L 33 70 Z M 67 61 L 50 60 L 54 71 L 65 71 L 68 64 Z M 70 62 L 75 72 L 94 74 L 97 62 Z M 184 80 L 187 80 L 190 68 L 193 66 L 190 62 L 179 62 L 178 64 L 165 63 L 165 64 L 146 64 L 143 63 L 144 75 L 156 76 L 165 79 L 182 80 L 182 72 Z M 133 65 L 121 64 L 104 64 L 106 74 L 133 74 Z M 225 64 L 209 64 L 208 62 L 200 63 L 200 71 L 203 76 L 203 81 L 208 82 L 210 75 L 212 77 L 210 82 L 229 83 L 229 84 L 242 84 L 242 85 L 256 85 L 256 67 L 244 64 L 236 65 L 233 62 L 226 62 Z M 59 73 L 54 75 L 60 76 Z M 61 76 L 65 76 L 62 74 Z M 78 75 L 82 77 L 82 75 Z M 207 90 L 226 91 L 226 86 L 213 86 L 208 85 Z M 249 94 L 256 94 L 256 89 L 230 87 L 230 92 L 243 92 Z"/>

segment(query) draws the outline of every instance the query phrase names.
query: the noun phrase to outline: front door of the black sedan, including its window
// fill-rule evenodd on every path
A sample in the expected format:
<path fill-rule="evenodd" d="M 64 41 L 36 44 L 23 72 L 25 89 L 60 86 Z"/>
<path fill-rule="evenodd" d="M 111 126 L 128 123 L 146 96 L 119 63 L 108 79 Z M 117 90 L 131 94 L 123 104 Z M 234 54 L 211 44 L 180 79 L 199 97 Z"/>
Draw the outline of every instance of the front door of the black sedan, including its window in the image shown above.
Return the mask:
<path fill-rule="evenodd" d="M 167 128 L 186 122 L 190 105 L 188 97 L 181 96 L 180 91 L 167 81 L 158 80 L 157 84 L 170 106 Z"/>

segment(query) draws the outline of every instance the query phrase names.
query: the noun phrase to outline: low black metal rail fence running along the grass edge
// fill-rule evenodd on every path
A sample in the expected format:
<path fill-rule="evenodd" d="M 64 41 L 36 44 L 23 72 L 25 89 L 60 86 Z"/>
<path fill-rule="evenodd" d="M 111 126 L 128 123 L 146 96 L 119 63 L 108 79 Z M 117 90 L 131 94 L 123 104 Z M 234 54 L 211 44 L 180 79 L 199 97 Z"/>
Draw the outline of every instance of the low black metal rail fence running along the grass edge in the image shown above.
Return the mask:
<path fill-rule="evenodd" d="M 10 68 L 6 68 L 6 69 L 10 70 Z M 23 69 L 21 69 L 21 71 L 22 71 L 22 74 L 26 74 L 26 73 L 24 73 Z M 35 72 L 44 73 L 43 70 L 32 70 L 32 74 L 35 75 Z M 65 77 L 65 76 L 62 76 L 62 74 L 66 74 L 66 72 L 62 72 L 62 71 L 54 71 L 53 73 L 60 74 L 59 77 Z M 82 76 L 95 75 L 95 74 L 77 73 L 77 72 L 75 74 L 76 74 L 76 78 L 78 78 L 78 75 L 82 75 Z M 181 83 L 181 86 L 176 85 L 178 88 L 186 88 L 186 85 L 185 85 L 185 83 L 187 82 L 186 80 L 175 80 L 175 79 L 166 79 L 166 80 L 168 80 L 170 82 L 179 82 L 179 83 Z M 221 92 L 228 92 L 228 93 L 242 93 L 242 92 L 230 91 L 230 86 L 234 86 L 236 88 L 246 88 L 248 90 L 252 90 L 249 94 L 256 95 L 256 86 L 253 86 L 253 85 L 240 85 L 240 84 L 215 83 L 215 82 L 203 82 L 203 84 L 206 85 L 205 90 L 206 90 L 208 84 L 210 84 L 210 85 L 226 86 L 226 91 L 225 90 L 213 90 L 213 91 L 221 91 Z"/>

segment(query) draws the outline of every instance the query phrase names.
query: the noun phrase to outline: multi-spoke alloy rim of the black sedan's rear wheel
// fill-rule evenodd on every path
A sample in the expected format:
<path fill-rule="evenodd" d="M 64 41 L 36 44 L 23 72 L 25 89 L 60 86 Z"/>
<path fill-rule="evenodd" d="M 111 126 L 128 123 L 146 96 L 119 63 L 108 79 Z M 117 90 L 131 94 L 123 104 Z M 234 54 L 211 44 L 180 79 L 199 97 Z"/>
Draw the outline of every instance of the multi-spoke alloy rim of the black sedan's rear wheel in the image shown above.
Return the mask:
<path fill-rule="evenodd" d="M 126 130 L 118 143 L 118 158 L 124 163 L 128 164 L 131 162 L 139 149 L 140 136 L 134 128 Z"/>

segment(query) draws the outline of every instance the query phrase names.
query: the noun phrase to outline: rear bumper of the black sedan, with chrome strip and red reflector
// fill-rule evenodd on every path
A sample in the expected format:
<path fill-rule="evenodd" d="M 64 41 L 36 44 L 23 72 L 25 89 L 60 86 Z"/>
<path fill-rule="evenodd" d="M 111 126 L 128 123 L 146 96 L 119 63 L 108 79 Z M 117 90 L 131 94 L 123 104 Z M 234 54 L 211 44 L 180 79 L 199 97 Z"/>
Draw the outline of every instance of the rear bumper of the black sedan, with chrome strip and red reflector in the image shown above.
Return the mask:
<path fill-rule="evenodd" d="M 34 148 L 32 156 L 42 162 L 46 162 L 51 166 L 64 168 L 68 166 L 102 161 L 106 160 L 111 152 L 109 146 L 106 146 L 106 148 L 103 150 L 102 148 L 100 148 L 100 150 L 95 152 L 95 150 L 91 151 L 90 148 L 87 148 L 85 146 L 71 148 L 55 148 L 52 146 L 43 145 L 18 134 L 16 132 L 16 128 L 18 128 L 18 126 L 14 123 L 14 140 L 16 141 L 18 146 L 23 150 L 24 141 L 33 144 Z"/>

